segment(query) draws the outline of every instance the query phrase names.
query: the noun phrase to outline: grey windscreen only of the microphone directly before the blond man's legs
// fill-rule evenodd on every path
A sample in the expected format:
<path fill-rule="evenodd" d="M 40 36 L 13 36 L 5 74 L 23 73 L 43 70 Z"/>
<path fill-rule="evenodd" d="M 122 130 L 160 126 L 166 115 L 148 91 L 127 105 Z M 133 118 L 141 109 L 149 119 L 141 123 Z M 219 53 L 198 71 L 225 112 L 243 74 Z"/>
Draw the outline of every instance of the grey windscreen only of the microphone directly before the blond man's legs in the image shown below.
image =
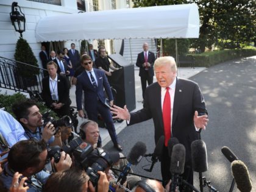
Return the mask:
<path fill-rule="evenodd" d="M 180 175 L 184 172 L 185 155 L 186 155 L 186 149 L 183 146 L 183 144 L 176 144 L 173 146 L 172 154 L 171 154 L 171 165 L 170 165 L 171 174 Z"/>

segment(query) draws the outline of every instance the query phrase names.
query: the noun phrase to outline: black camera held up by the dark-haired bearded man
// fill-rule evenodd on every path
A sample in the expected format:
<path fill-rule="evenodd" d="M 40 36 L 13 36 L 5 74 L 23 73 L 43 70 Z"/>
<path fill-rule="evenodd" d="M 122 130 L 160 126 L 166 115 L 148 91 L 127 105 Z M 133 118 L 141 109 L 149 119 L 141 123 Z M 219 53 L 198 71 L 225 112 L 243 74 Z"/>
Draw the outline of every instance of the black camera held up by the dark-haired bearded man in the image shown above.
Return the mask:
<path fill-rule="evenodd" d="M 49 110 L 48 112 L 44 113 L 43 114 L 43 127 L 46 126 L 46 124 L 48 124 L 49 122 L 51 122 L 54 127 L 55 127 L 55 130 L 57 133 L 58 130 L 59 130 L 59 126 L 71 126 L 72 125 L 72 121 L 71 121 L 71 118 L 69 118 L 68 115 L 65 115 L 63 116 L 62 118 L 58 119 L 58 120 L 55 120 L 52 116 L 49 116 L 50 115 L 50 112 L 51 110 Z"/>

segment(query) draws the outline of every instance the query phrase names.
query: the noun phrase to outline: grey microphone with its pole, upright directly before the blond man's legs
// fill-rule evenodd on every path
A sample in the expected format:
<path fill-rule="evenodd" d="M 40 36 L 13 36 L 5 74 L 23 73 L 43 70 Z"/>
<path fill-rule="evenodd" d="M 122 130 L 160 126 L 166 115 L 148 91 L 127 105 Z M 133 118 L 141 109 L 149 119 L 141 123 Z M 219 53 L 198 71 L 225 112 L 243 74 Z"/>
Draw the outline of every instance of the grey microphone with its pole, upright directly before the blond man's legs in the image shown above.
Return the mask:
<path fill-rule="evenodd" d="M 169 146 L 168 146 L 169 148 Z M 171 154 L 171 186 L 169 191 L 176 191 L 179 183 L 179 175 L 184 172 L 186 150 L 183 144 L 175 144 Z"/>

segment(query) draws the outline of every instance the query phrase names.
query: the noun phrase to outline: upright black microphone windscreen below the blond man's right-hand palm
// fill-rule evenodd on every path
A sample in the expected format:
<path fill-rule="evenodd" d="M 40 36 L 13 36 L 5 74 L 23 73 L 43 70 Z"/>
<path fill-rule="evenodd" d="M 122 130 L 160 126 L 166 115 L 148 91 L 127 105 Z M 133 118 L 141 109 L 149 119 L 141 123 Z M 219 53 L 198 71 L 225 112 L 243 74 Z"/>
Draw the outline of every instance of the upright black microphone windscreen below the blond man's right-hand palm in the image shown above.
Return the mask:
<path fill-rule="evenodd" d="M 191 143 L 191 157 L 193 170 L 205 172 L 208 169 L 207 150 L 203 140 L 195 140 Z"/>

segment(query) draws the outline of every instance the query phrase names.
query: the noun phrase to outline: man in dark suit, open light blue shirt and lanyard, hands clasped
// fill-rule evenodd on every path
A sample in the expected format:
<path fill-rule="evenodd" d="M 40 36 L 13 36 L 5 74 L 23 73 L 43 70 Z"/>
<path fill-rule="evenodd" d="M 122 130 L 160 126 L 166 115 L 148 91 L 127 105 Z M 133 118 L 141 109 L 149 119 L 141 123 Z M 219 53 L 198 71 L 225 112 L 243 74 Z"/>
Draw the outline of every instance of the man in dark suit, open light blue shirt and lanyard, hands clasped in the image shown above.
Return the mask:
<path fill-rule="evenodd" d="M 42 97 L 45 104 L 52 108 L 59 117 L 69 115 L 69 82 L 66 77 L 57 74 L 57 64 L 47 63 L 49 77 L 44 77 Z"/>

